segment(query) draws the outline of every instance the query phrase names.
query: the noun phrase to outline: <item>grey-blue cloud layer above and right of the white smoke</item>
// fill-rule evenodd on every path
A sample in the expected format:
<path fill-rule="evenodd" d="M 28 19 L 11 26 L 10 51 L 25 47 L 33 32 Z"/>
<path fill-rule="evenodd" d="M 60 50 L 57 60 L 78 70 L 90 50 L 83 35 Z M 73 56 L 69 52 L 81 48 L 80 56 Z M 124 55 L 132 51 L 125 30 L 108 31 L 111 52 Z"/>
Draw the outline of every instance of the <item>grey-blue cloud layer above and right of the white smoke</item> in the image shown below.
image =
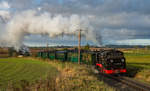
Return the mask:
<path fill-rule="evenodd" d="M 88 17 L 95 34 L 103 41 L 150 39 L 150 0 L 5 0 L 0 6 L 16 10 L 11 13 L 32 9 L 52 16 L 78 14 Z M 0 12 L 5 13 L 0 16 L 5 16 L 7 11 Z"/>

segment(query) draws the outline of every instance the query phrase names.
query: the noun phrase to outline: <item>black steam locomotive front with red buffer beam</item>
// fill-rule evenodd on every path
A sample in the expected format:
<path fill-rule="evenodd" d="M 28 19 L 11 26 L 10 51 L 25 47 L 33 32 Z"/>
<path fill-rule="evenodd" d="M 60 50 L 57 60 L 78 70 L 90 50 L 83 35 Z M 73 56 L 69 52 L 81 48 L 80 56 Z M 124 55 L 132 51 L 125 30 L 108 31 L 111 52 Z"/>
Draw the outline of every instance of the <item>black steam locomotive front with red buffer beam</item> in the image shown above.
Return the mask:
<path fill-rule="evenodd" d="M 126 73 L 124 54 L 118 50 L 100 51 L 97 55 L 96 66 L 106 74 Z"/>

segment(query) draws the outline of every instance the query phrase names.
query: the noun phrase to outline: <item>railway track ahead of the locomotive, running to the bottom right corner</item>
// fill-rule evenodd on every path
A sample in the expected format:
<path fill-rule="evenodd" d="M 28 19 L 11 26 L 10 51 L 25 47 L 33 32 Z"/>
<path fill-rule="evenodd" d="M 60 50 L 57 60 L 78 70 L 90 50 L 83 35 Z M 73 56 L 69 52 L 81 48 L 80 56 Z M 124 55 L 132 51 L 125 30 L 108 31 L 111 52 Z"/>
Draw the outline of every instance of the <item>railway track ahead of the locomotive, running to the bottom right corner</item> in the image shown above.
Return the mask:
<path fill-rule="evenodd" d="M 122 84 L 125 84 L 128 87 L 135 89 L 135 91 L 150 91 L 150 85 L 146 83 L 135 81 L 131 78 L 124 77 L 124 76 L 112 76 L 107 74 L 102 74 L 102 75 L 104 77 L 108 77 L 115 81 L 121 82 Z"/>

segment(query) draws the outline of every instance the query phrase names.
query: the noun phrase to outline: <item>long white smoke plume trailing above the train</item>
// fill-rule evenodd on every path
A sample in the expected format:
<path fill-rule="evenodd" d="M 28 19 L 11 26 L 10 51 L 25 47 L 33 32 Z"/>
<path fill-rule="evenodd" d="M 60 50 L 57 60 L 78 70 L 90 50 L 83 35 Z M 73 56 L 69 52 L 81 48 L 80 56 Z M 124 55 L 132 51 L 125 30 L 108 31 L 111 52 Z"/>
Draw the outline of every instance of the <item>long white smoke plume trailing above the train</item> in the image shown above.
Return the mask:
<path fill-rule="evenodd" d="M 50 13 L 39 14 L 37 11 L 28 10 L 16 14 L 6 25 L 6 34 L 2 36 L 0 45 L 10 45 L 18 49 L 23 45 L 24 37 L 29 34 L 48 35 L 56 37 L 61 34 L 77 35 L 78 30 L 92 41 L 96 42 L 93 28 L 87 17 L 71 15 L 51 15 Z"/>

